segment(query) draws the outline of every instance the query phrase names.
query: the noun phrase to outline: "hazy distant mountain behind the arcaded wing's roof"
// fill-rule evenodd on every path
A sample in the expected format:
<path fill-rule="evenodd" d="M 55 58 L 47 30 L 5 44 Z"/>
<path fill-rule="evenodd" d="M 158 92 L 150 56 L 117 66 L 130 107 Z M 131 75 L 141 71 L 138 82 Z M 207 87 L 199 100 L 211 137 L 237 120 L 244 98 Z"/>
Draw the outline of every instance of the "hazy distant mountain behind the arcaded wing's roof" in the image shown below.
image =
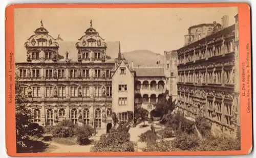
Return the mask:
<path fill-rule="evenodd" d="M 151 50 L 133 50 L 129 52 L 122 52 L 124 58 L 129 62 L 134 63 L 134 66 L 138 65 L 156 65 L 157 59 L 160 61 L 160 64 L 164 64 L 164 56 L 157 54 Z"/>

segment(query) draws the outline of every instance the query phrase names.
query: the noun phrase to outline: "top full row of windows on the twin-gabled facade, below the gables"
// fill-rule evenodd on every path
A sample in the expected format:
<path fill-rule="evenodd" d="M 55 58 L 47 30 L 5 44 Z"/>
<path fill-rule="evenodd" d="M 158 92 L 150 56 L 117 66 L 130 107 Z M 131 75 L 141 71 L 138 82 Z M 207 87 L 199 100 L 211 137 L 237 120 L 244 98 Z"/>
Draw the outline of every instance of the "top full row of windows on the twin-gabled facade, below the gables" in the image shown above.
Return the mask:
<path fill-rule="evenodd" d="M 83 77 L 83 78 L 89 78 L 90 77 L 90 70 L 89 69 L 70 69 L 69 70 L 69 77 L 70 78 L 77 78 L 77 77 Z M 111 70 L 101 70 L 101 69 L 94 69 L 94 77 L 111 77 Z M 45 75 L 46 78 L 65 78 L 65 69 L 45 69 Z M 40 77 L 40 69 L 19 69 L 19 77 L 25 78 L 25 77 Z"/>

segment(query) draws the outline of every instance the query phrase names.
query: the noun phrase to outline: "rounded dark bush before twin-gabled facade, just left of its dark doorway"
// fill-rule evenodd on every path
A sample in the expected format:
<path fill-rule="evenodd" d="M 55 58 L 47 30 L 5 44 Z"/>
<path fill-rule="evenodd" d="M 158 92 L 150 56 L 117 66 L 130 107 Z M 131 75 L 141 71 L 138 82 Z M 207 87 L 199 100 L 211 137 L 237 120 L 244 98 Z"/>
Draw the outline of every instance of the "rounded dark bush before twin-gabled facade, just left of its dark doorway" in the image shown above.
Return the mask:
<path fill-rule="evenodd" d="M 79 145 L 86 145 L 90 143 L 89 138 L 92 137 L 95 129 L 92 128 L 90 125 L 79 126 L 76 131 L 75 135 L 77 136 L 77 144 Z"/>

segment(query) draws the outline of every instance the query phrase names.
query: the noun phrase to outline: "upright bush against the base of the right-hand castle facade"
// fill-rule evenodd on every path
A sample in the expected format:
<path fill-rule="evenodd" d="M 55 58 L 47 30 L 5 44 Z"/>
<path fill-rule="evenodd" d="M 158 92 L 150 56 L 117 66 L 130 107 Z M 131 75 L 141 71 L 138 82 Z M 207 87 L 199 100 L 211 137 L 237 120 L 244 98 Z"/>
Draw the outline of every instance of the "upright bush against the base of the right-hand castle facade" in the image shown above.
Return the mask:
<path fill-rule="evenodd" d="M 205 117 L 197 117 L 196 126 L 203 137 L 211 135 L 211 125 L 208 123 L 208 120 Z"/>

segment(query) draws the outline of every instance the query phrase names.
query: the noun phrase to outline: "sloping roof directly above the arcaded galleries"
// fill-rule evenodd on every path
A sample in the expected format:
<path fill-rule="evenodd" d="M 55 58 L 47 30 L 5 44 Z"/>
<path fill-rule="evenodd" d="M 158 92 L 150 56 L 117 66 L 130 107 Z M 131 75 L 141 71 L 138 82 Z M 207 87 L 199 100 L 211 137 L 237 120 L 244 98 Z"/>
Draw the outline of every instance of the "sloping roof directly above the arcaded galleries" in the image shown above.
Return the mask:
<path fill-rule="evenodd" d="M 137 77 L 157 77 L 164 76 L 164 68 L 161 67 L 137 67 L 134 68 Z"/>

